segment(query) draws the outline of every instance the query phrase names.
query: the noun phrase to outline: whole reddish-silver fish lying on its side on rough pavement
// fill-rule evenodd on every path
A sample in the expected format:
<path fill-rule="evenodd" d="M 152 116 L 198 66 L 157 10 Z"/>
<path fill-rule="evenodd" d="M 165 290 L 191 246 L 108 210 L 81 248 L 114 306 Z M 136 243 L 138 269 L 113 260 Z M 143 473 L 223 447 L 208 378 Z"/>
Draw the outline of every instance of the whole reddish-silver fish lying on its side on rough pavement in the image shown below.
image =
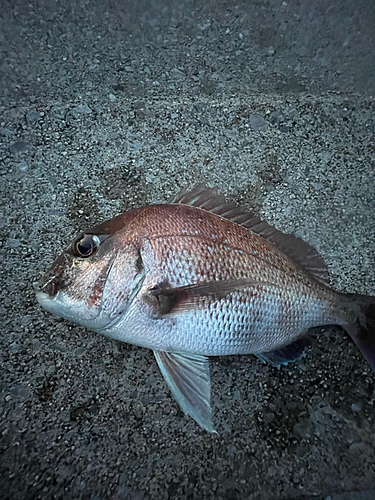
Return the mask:
<path fill-rule="evenodd" d="M 151 349 L 210 433 L 210 356 L 281 367 L 305 354 L 310 328 L 340 325 L 375 370 L 375 297 L 335 291 L 312 246 L 203 184 L 80 232 L 35 288 L 48 312 Z"/>

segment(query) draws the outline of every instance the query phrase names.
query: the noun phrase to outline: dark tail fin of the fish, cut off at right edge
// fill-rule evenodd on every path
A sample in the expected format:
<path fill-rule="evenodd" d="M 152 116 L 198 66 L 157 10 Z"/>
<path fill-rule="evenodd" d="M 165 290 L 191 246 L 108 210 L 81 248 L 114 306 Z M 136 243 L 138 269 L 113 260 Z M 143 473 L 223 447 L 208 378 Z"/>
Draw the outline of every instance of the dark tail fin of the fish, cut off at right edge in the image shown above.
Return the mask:
<path fill-rule="evenodd" d="M 355 317 L 342 326 L 375 371 L 375 297 L 356 294 L 345 297 L 349 299 Z"/>

